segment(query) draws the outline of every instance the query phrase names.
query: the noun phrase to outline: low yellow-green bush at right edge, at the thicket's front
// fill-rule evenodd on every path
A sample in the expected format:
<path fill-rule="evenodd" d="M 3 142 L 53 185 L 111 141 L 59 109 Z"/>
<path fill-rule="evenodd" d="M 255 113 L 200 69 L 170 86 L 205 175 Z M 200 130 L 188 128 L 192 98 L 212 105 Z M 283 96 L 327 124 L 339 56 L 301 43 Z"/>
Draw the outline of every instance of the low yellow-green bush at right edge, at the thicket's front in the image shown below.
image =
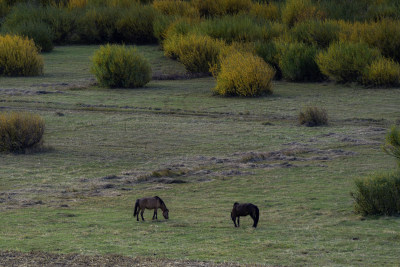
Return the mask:
<path fill-rule="evenodd" d="M 363 83 L 372 86 L 397 86 L 400 82 L 400 65 L 392 59 L 379 58 L 364 71 Z"/>

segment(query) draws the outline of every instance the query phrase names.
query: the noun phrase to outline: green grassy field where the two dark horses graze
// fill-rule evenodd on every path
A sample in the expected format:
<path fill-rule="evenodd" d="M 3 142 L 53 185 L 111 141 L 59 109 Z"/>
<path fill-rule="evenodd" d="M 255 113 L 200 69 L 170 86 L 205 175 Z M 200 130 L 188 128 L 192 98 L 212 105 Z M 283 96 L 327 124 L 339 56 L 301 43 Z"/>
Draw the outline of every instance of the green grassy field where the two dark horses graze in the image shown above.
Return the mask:
<path fill-rule="evenodd" d="M 96 48 L 56 47 L 43 77 L 0 78 L 0 110 L 40 114 L 47 146 L 0 155 L 0 250 L 399 264 L 399 218 L 361 218 L 350 197 L 354 178 L 395 167 L 381 145 L 400 122 L 398 89 L 275 82 L 272 96 L 215 97 L 211 77 L 163 80 L 184 68 L 143 46 L 163 79 L 111 90 L 89 72 Z M 298 125 L 309 104 L 328 126 Z M 170 219 L 136 222 L 134 201 L 153 195 Z M 249 217 L 233 227 L 235 201 L 260 208 L 257 229 Z"/>

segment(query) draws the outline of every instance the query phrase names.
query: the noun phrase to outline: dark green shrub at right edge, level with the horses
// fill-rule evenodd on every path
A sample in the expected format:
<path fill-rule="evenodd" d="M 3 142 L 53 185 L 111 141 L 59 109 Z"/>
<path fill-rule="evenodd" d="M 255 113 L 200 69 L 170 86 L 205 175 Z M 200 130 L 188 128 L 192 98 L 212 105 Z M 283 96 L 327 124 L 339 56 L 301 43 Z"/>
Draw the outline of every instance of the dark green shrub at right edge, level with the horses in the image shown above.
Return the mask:
<path fill-rule="evenodd" d="M 356 213 L 366 215 L 398 215 L 400 213 L 400 172 L 378 173 L 354 181 Z"/>

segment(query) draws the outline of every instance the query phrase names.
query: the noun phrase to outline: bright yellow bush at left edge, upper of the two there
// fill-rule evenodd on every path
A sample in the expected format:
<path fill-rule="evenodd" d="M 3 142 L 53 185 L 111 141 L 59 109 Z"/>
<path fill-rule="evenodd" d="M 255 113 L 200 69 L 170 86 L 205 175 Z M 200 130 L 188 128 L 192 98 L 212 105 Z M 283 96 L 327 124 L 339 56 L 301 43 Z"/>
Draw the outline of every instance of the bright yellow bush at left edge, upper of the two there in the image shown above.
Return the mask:
<path fill-rule="evenodd" d="M 43 73 L 43 58 L 33 40 L 0 35 L 0 76 L 37 76 Z"/>

